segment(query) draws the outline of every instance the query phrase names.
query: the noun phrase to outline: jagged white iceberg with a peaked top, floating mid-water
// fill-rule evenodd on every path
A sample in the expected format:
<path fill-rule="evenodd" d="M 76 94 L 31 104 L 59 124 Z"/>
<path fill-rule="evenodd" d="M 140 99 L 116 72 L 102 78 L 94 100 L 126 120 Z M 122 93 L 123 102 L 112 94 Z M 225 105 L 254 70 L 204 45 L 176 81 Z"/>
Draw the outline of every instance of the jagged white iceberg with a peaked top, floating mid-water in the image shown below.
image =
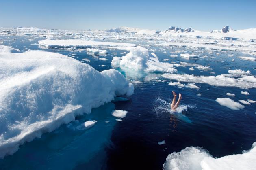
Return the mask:
<path fill-rule="evenodd" d="M 137 46 L 130 48 L 130 52 L 123 57 L 113 57 L 111 65 L 113 67 L 128 68 L 135 71 L 145 72 L 167 72 L 174 73 L 177 70 L 173 68 L 173 64 L 159 62 L 155 53 L 153 57 L 149 57 L 148 49 Z"/>

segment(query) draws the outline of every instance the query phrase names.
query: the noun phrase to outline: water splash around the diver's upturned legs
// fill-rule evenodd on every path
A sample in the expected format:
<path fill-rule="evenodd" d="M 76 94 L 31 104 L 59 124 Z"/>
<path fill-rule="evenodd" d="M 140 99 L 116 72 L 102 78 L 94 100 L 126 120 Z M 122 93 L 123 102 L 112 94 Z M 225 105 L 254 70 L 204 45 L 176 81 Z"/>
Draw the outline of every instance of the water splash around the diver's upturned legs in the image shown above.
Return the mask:
<path fill-rule="evenodd" d="M 171 100 L 164 100 L 163 98 L 156 98 L 156 106 L 153 109 L 153 113 L 163 115 L 165 113 L 170 113 L 174 115 L 177 119 L 180 119 L 187 123 L 192 123 L 192 121 L 182 114 L 182 111 L 187 110 L 188 108 L 193 108 L 195 106 L 188 105 L 188 104 L 180 104 L 178 108 L 176 108 L 176 111 L 171 110 Z"/>

